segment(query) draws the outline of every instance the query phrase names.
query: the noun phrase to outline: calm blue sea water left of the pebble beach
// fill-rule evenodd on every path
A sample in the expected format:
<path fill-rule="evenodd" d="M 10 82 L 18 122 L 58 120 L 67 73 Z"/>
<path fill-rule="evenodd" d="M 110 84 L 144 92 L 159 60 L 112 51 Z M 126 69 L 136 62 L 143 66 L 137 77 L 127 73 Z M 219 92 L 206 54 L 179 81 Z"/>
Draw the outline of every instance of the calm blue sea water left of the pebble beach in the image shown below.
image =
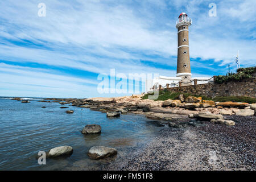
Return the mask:
<path fill-rule="evenodd" d="M 143 115 L 122 114 L 107 118 L 106 113 L 71 105 L 60 109 L 57 102 L 38 102 L 43 98 L 24 98 L 31 103 L 0 97 L 0 170 L 101 170 L 108 160 L 92 160 L 90 147 L 106 146 L 118 150 L 118 157 L 128 157 L 150 142 L 161 127 Z M 45 106 L 46 108 L 42 108 Z M 74 110 L 66 114 L 65 110 Z M 100 135 L 83 135 L 85 125 L 101 125 Z M 58 146 L 72 146 L 73 154 L 47 159 L 39 165 L 39 151 Z M 112 160 L 117 160 L 113 158 Z"/>

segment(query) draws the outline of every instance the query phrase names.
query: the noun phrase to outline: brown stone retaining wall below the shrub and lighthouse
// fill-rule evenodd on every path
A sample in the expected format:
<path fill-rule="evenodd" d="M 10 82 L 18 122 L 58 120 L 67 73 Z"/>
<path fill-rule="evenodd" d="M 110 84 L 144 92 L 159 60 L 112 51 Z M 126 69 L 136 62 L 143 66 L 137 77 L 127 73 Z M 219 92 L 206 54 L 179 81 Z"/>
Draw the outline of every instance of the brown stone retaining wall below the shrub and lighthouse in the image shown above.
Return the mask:
<path fill-rule="evenodd" d="M 226 82 L 222 84 L 200 84 L 168 88 L 171 92 L 192 93 L 197 96 L 247 96 L 256 98 L 256 78 L 247 78 L 241 82 Z"/>

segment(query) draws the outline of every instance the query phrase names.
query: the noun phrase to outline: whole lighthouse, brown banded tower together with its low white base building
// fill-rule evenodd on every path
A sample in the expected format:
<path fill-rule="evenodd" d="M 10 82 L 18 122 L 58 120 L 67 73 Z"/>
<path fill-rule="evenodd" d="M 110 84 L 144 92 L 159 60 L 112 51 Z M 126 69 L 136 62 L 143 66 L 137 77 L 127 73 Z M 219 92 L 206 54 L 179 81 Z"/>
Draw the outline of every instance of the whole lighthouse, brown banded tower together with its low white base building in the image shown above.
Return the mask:
<path fill-rule="evenodd" d="M 176 76 L 161 76 L 155 77 L 154 79 L 147 79 L 145 84 L 146 92 L 153 91 L 154 88 L 161 85 L 159 88 L 165 89 L 177 86 L 206 84 L 213 82 L 213 77 L 193 77 L 190 68 L 189 58 L 189 42 L 188 42 L 188 27 L 191 26 L 192 20 L 187 14 L 181 13 L 179 19 L 176 22 L 177 28 L 177 73 Z"/>

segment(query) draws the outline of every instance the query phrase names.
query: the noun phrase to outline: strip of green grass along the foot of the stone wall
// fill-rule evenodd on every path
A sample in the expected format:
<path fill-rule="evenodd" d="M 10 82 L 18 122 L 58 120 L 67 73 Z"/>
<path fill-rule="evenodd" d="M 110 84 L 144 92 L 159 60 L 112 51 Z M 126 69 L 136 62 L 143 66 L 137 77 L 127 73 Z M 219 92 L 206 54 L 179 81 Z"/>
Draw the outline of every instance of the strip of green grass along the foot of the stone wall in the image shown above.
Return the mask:
<path fill-rule="evenodd" d="M 148 99 L 148 96 L 152 96 L 154 93 L 152 94 L 145 94 L 142 99 Z M 210 98 L 210 97 L 206 97 L 206 96 L 196 96 L 193 95 L 191 93 L 181 93 L 181 92 L 170 92 L 166 89 L 164 90 L 160 90 L 159 92 L 159 97 L 158 99 L 156 99 L 155 101 L 166 101 L 168 99 L 171 100 L 176 100 L 179 99 L 179 95 L 183 94 L 184 98 L 186 99 L 188 96 L 195 96 L 195 97 L 202 97 L 203 100 L 212 100 L 215 102 L 247 102 L 249 104 L 253 104 L 256 103 L 256 98 L 251 98 L 251 97 L 244 97 L 244 96 L 227 96 L 227 97 L 214 97 L 214 98 Z"/>

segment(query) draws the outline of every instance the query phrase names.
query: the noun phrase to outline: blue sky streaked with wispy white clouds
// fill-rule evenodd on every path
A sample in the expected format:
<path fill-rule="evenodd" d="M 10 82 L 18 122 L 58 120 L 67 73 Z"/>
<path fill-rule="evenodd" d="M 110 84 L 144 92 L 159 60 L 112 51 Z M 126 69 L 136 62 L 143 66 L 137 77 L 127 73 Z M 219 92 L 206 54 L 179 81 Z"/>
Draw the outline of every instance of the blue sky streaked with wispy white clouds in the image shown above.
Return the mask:
<path fill-rule="evenodd" d="M 46 5 L 46 16 L 39 16 Z M 210 3 L 216 16 L 209 16 Z M 100 74 L 176 75 L 181 12 L 192 19 L 192 77 L 255 66 L 255 0 L 0 1 L 0 96 L 88 98 Z"/>

